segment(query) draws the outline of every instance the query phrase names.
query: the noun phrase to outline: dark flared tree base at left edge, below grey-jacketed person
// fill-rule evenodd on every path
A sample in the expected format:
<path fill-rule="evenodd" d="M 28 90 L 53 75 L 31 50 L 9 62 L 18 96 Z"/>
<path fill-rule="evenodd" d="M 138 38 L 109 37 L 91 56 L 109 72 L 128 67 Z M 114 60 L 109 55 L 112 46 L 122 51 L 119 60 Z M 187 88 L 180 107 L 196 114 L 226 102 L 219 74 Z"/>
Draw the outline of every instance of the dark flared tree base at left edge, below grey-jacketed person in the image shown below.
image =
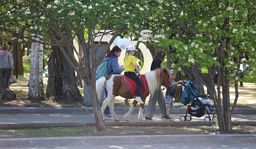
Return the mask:
<path fill-rule="evenodd" d="M 4 78 L 0 74 L 0 93 L 1 100 L 15 100 L 16 94 L 12 92 L 4 81 Z"/>

